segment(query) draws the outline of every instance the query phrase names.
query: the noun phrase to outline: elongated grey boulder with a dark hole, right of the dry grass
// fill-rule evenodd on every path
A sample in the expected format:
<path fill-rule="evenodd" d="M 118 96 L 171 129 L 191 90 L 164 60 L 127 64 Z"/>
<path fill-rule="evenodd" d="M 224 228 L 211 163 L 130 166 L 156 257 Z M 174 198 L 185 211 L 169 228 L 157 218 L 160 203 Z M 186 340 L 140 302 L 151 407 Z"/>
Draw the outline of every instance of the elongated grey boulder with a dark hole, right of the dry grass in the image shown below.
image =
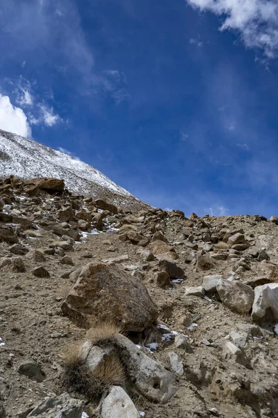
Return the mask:
<path fill-rule="evenodd" d="M 168 402 L 177 391 L 174 374 L 148 357 L 126 336 L 117 334 L 116 340 L 126 375 L 138 392 L 149 401 Z"/>

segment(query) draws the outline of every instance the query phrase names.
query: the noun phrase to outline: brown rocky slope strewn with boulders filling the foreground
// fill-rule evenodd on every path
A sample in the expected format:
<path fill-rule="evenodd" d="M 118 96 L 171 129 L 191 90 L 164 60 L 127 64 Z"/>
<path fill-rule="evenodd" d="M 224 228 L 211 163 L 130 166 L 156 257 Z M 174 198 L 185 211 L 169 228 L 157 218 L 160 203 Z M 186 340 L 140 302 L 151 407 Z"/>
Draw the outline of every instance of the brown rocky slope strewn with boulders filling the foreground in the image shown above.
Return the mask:
<path fill-rule="evenodd" d="M 0 417 L 278 417 L 277 218 L 0 196 Z"/>

